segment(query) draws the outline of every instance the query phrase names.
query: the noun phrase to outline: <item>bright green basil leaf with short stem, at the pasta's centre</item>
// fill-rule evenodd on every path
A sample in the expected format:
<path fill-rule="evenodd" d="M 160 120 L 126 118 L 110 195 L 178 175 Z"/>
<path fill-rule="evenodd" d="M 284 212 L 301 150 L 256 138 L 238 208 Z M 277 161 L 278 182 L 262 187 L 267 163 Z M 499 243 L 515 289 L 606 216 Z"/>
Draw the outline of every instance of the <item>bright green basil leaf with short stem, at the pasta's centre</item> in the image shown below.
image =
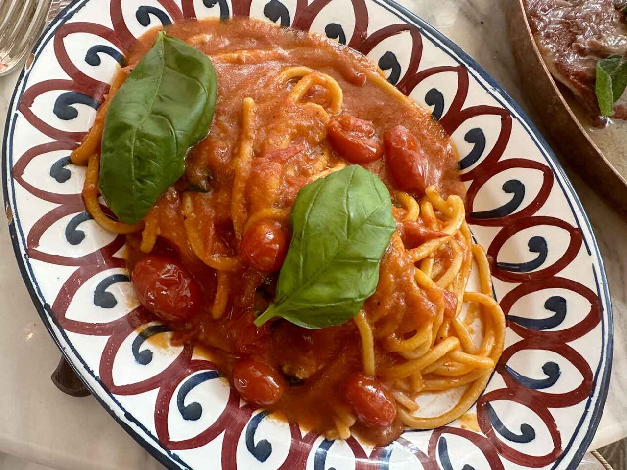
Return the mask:
<path fill-rule="evenodd" d="M 345 323 L 374 293 L 396 229 L 387 188 L 362 167 L 346 167 L 298 192 L 292 229 L 275 303 L 255 325 L 275 316 L 305 328 Z"/>

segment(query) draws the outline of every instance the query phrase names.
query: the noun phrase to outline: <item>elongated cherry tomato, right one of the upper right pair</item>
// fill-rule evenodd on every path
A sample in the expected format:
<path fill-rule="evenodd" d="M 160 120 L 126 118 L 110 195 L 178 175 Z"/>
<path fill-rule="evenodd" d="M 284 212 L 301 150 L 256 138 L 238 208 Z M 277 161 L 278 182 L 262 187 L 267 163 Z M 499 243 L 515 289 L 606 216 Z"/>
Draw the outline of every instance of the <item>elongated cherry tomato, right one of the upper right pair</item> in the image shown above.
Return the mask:
<path fill-rule="evenodd" d="M 403 126 L 394 126 L 383 133 L 386 163 L 394 184 L 402 191 L 424 192 L 427 159 L 418 139 Z"/>

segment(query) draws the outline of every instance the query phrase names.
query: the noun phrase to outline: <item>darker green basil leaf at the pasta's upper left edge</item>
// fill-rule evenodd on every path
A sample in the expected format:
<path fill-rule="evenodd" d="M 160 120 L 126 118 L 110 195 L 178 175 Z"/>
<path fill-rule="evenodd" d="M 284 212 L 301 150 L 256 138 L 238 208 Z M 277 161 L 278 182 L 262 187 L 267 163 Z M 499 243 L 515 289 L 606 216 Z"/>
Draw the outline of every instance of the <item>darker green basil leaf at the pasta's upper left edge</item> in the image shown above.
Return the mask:
<path fill-rule="evenodd" d="M 217 88 L 208 56 L 159 33 L 105 120 L 100 192 L 121 221 L 142 219 L 181 177 L 187 150 L 207 135 Z"/>

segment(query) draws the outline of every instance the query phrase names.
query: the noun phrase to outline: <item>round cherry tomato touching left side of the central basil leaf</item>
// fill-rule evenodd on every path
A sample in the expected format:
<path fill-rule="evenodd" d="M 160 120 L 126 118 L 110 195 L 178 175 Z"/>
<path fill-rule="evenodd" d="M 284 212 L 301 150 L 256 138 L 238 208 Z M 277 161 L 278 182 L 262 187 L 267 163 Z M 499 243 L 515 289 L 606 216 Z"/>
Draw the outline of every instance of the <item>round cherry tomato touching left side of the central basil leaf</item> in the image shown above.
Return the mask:
<path fill-rule="evenodd" d="M 274 273 L 283 265 L 288 234 L 281 224 L 268 219 L 256 222 L 244 233 L 241 250 L 248 263 L 262 273 Z"/>

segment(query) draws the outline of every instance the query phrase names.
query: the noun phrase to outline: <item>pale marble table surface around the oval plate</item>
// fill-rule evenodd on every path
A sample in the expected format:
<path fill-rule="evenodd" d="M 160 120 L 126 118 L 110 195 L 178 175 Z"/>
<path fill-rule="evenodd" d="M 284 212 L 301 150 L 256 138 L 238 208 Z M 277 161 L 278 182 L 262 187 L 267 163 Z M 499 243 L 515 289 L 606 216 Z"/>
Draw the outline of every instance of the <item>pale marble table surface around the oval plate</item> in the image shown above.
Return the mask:
<path fill-rule="evenodd" d="M 440 29 L 534 113 L 520 91 L 502 0 L 401 0 Z M 17 73 L 0 78 L 0 128 Z M 614 367 L 592 449 L 627 436 L 627 223 L 567 169 L 603 254 L 614 308 Z M 622 236 L 617 236 L 622 234 Z M 19 275 L 9 231 L 0 224 L 0 452 L 58 469 L 162 468 L 92 397 L 62 394 L 50 381 L 60 353 L 40 323 Z"/>

